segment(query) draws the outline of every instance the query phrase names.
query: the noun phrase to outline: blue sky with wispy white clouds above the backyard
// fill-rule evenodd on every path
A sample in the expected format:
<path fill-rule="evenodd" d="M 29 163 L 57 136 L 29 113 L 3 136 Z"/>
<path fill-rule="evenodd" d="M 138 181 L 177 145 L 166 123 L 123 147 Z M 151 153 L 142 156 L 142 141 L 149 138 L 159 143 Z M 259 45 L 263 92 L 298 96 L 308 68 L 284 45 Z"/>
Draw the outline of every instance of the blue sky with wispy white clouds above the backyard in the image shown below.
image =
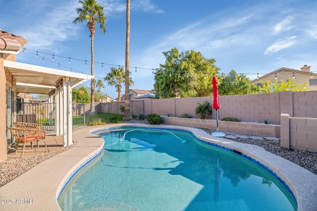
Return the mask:
<path fill-rule="evenodd" d="M 98 2 L 105 9 L 107 33 L 96 27 L 97 81 L 110 67 L 124 65 L 126 30 L 126 1 Z M 30 50 L 21 52 L 18 62 L 52 68 L 59 63 L 62 70 L 90 74 L 89 63 L 80 61 L 91 60 L 89 31 L 86 23 L 72 24 L 78 0 L 0 0 L 0 5 L 0 29 L 28 40 Z M 165 62 L 162 52 L 173 47 L 200 51 L 216 60 L 220 73 L 233 69 L 251 80 L 257 73 L 300 70 L 305 64 L 317 73 L 316 11 L 313 0 L 131 0 L 129 60 L 135 83 L 130 88 L 152 89 L 152 69 Z M 102 91 L 117 97 L 114 86 Z"/>

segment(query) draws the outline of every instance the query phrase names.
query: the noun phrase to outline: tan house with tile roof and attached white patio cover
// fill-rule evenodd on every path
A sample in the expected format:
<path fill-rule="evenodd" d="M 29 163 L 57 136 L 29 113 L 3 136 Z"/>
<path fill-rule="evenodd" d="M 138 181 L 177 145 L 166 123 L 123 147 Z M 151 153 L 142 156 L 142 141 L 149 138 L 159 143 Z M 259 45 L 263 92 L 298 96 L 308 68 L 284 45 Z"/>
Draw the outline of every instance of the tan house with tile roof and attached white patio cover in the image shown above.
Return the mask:
<path fill-rule="evenodd" d="M 53 102 L 55 96 L 56 135 L 63 135 L 63 145 L 72 144 L 72 107 L 71 89 L 94 78 L 94 76 L 79 74 L 59 69 L 16 62 L 18 54 L 27 39 L 0 29 L 0 163 L 7 158 L 8 149 L 13 144 L 13 138 L 8 127 L 17 121 L 17 101 L 26 102 L 29 94 L 47 94 Z M 30 98 L 29 98 L 30 99 Z"/>

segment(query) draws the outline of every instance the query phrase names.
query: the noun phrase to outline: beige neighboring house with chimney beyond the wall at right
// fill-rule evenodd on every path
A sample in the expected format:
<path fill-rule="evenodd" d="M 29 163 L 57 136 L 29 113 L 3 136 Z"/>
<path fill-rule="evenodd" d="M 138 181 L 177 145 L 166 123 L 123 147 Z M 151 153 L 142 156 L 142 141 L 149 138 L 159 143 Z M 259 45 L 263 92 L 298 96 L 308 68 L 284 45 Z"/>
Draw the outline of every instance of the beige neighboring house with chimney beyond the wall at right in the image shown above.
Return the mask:
<path fill-rule="evenodd" d="M 306 88 L 308 90 L 317 90 L 317 74 L 310 71 L 311 66 L 304 65 L 301 70 L 295 70 L 290 68 L 280 68 L 271 73 L 268 73 L 258 79 L 251 81 L 252 84 L 262 86 L 262 82 L 270 81 L 274 83 L 275 79 L 278 83 L 283 80 L 284 83 L 288 82 L 289 79 L 296 79 L 295 84 L 303 84 L 307 82 Z"/>

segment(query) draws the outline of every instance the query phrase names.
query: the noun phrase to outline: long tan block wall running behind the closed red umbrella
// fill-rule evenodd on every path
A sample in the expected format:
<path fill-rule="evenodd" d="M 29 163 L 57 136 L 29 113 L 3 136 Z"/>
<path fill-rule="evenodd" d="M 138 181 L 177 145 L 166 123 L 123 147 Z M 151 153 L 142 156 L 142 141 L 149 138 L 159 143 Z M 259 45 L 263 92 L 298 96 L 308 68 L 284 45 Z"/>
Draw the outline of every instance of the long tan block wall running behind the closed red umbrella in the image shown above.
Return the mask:
<path fill-rule="evenodd" d="M 156 113 L 161 116 L 179 117 L 195 114 L 197 103 L 213 102 L 213 97 L 190 97 L 170 99 L 146 99 L 145 114 Z M 282 91 L 279 93 L 244 94 L 219 96 L 218 119 L 235 117 L 241 122 L 260 122 L 280 125 L 280 115 L 290 117 L 317 118 L 317 91 Z M 215 119 L 215 110 L 207 119 Z"/>

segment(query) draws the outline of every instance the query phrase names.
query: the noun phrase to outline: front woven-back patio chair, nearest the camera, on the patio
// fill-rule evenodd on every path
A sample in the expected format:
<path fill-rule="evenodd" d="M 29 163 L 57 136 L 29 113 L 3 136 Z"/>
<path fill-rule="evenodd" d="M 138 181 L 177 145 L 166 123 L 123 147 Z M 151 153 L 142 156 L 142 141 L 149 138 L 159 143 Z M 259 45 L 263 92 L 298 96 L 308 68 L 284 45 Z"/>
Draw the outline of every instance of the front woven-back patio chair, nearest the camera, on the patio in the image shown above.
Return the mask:
<path fill-rule="evenodd" d="M 39 141 L 43 140 L 45 143 L 46 152 L 48 146 L 46 145 L 46 131 L 34 128 L 22 128 L 22 127 L 9 127 L 13 137 L 15 138 L 15 154 L 18 150 L 19 143 L 23 143 L 22 156 L 24 155 L 25 144 L 30 142 L 33 149 L 33 142 L 37 141 L 39 148 Z"/>

